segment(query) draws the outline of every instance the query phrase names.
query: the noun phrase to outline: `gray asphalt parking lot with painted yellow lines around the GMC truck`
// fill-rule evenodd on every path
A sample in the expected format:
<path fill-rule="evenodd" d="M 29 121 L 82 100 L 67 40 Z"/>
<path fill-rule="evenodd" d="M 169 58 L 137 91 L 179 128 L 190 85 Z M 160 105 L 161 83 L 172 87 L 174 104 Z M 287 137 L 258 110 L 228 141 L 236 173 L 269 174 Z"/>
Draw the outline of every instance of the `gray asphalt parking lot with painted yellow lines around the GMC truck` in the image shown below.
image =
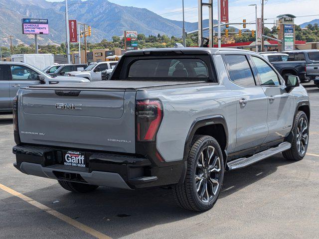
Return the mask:
<path fill-rule="evenodd" d="M 0 238 L 319 238 L 319 89 L 311 100 L 310 145 L 299 162 L 281 154 L 226 172 L 214 208 L 178 208 L 169 189 L 100 187 L 74 194 L 12 163 L 11 114 L 0 114 Z"/>

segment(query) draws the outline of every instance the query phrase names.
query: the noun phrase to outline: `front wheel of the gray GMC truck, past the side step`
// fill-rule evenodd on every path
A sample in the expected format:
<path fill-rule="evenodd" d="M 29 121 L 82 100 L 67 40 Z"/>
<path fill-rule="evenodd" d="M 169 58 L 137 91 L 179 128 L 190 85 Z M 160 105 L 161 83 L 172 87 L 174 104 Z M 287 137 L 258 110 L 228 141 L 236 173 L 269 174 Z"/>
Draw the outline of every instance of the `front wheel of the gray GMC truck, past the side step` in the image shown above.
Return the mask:
<path fill-rule="evenodd" d="M 306 123 L 307 128 L 304 132 L 302 132 L 301 134 L 299 134 L 300 131 L 300 123 L 302 123 L 301 121 L 304 120 L 304 124 Z M 307 149 L 308 149 L 308 143 L 309 143 L 309 122 L 308 122 L 308 118 L 307 115 L 305 114 L 305 112 L 303 111 L 298 111 L 295 119 L 294 119 L 294 126 L 292 129 L 293 133 L 294 133 L 294 138 L 292 141 L 292 146 L 289 150 L 283 152 L 283 155 L 286 159 L 289 160 L 294 160 L 294 161 L 299 161 L 302 160 L 306 153 L 307 153 Z M 304 139 L 304 135 L 307 134 L 307 139 Z M 301 144 L 301 148 L 300 148 L 300 144 Z M 305 145 L 305 146 L 304 146 Z M 303 149 L 304 150 L 300 150 Z"/>

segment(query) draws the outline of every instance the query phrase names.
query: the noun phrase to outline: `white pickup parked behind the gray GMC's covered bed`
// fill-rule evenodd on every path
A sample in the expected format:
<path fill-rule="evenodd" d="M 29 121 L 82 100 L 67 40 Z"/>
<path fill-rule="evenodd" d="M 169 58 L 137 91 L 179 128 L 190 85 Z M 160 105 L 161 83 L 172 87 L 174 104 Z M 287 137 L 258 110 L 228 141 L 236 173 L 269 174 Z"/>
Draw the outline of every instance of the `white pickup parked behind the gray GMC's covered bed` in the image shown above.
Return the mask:
<path fill-rule="evenodd" d="M 90 81 L 102 81 L 101 72 L 105 70 L 113 69 L 117 63 L 118 63 L 117 61 L 93 63 L 93 64 L 90 64 L 83 71 L 72 71 L 72 72 L 69 72 L 67 75 L 76 76 L 76 77 L 84 77 Z"/>

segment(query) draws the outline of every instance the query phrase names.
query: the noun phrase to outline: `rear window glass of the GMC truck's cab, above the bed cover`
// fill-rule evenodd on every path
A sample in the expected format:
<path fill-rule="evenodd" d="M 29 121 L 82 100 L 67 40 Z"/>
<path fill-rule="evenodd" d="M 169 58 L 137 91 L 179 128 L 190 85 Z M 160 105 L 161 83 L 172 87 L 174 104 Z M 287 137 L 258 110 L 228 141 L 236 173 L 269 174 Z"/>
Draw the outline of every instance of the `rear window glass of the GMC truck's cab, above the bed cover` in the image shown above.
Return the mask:
<path fill-rule="evenodd" d="M 143 59 L 134 61 L 128 78 L 169 78 L 178 80 L 208 80 L 207 64 L 201 59 Z"/>

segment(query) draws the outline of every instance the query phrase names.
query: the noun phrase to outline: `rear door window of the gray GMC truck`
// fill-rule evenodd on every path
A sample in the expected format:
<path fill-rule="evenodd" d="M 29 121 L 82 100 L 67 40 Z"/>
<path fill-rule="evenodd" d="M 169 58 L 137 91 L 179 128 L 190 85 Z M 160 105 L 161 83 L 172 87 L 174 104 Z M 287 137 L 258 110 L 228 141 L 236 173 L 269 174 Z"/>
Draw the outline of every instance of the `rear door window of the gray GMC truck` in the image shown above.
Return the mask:
<path fill-rule="evenodd" d="M 245 55 L 225 55 L 224 59 L 232 82 L 244 87 L 256 86 L 253 73 Z"/>

